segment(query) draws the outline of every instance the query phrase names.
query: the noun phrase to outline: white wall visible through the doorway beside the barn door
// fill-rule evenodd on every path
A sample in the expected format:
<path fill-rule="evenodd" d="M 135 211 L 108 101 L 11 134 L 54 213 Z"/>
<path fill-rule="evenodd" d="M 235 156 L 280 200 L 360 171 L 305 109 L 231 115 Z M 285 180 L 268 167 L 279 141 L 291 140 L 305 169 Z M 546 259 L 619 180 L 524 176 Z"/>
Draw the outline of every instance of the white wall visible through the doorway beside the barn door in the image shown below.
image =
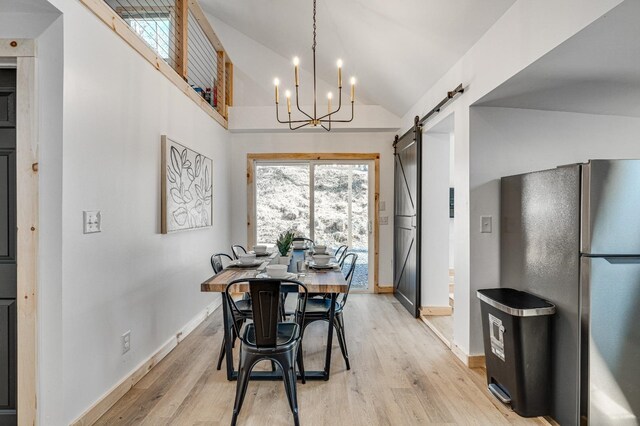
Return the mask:
<path fill-rule="evenodd" d="M 421 306 L 449 306 L 449 133 L 422 138 Z"/>

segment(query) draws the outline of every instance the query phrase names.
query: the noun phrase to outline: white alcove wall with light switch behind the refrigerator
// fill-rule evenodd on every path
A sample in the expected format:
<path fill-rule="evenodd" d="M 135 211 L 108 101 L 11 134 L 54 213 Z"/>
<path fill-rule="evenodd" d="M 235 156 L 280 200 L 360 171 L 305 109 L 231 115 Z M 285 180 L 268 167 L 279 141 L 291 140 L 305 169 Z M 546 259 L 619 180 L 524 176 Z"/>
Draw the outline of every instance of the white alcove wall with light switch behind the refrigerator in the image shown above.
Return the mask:
<path fill-rule="evenodd" d="M 640 158 L 640 118 L 471 108 L 472 291 L 500 283 L 500 177 L 589 159 Z M 493 232 L 480 233 L 480 216 Z M 457 313 L 456 300 L 456 313 Z M 471 304 L 471 353 L 482 352 L 480 305 Z"/>

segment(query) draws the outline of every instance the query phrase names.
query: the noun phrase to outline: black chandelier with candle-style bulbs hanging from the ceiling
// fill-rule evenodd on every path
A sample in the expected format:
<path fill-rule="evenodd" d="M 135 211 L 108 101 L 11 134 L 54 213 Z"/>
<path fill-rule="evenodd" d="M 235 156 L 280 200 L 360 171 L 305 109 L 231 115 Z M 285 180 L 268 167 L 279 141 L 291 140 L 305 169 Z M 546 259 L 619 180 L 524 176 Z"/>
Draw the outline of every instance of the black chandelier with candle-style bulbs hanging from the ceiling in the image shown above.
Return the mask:
<path fill-rule="evenodd" d="M 353 104 L 356 97 L 356 79 L 351 77 L 351 118 L 348 120 L 336 120 L 332 118 L 332 116 L 337 114 L 342 107 L 342 60 L 338 59 L 338 107 L 335 110 L 331 109 L 333 94 L 329 92 L 327 93 L 327 113 L 318 116 L 318 85 L 316 77 L 316 0 L 313 0 L 313 44 L 311 45 L 311 50 L 313 51 L 313 115 L 307 114 L 302 110 L 302 108 L 300 108 L 300 101 L 298 97 L 300 87 L 300 59 L 296 56 L 293 58 L 296 84 L 296 108 L 304 115 L 305 118 L 302 120 L 291 119 L 291 92 L 287 90 L 285 92 L 285 96 L 287 98 L 287 114 L 289 118 L 288 120 L 280 120 L 280 80 L 276 78 L 273 81 L 276 86 L 276 119 L 278 120 L 278 123 L 288 124 L 289 129 L 291 130 L 298 130 L 306 126 L 321 126 L 326 131 L 329 131 L 331 130 L 332 123 L 349 123 L 350 121 L 353 121 Z"/>

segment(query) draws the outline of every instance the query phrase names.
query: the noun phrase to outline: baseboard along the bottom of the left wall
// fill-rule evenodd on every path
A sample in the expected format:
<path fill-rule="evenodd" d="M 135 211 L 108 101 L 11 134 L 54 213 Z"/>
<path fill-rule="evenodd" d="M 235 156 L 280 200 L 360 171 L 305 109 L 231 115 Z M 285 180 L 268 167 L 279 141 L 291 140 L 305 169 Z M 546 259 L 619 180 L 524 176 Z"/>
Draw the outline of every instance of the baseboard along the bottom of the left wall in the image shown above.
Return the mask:
<path fill-rule="evenodd" d="M 158 365 L 162 359 L 180 344 L 193 330 L 196 329 L 209 315 L 211 315 L 221 304 L 220 299 L 211 302 L 205 309 L 200 311 L 193 319 L 191 319 L 184 327 L 182 327 L 175 336 L 167 340 L 157 351 L 149 358 L 140 363 L 122 380 L 109 389 L 96 402 L 94 402 L 84 413 L 82 413 L 72 426 L 90 426 L 94 424 L 104 413 L 106 413 L 113 405 L 118 402 L 131 388 L 135 386 L 153 367 Z"/>

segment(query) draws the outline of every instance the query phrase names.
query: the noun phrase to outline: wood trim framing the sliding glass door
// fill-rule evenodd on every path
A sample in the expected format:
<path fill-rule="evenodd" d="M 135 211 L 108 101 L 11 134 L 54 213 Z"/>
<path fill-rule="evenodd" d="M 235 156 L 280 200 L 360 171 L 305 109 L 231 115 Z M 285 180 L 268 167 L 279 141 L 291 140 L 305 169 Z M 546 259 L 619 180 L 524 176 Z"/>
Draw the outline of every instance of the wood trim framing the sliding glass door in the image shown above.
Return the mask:
<path fill-rule="evenodd" d="M 342 160 L 373 161 L 374 163 L 374 205 L 373 205 L 373 292 L 379 293 L 380 272 L 380 224 L 378 223 L 380 207 L 380 153 L 249 153 L 247 154 L 247 245 L 255 244 L 256 229 L 254 224 L 256 198 L 254 191 L 254 169 L 256 161 L 291 161 L 291 160 Z"/>

